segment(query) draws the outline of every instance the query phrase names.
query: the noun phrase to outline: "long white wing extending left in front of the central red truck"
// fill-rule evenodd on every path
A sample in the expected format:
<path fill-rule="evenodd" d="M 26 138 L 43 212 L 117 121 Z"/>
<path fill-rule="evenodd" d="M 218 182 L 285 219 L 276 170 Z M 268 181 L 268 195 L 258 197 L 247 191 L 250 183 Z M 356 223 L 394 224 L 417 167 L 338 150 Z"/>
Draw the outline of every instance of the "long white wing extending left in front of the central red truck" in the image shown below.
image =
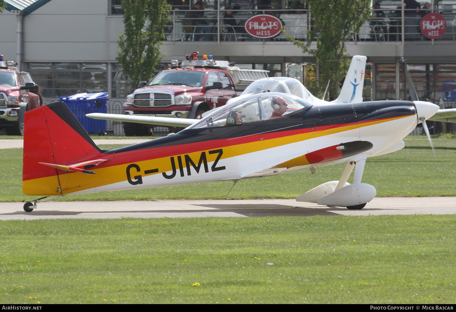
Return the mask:
<path fill-rule="evenodd" d="M 165 125 L 171 127 L 184 127 L 187 128 L 195 123 L 198 119 L 188 118 L 170 118 L 170 117 L 152 117 L 152 116 L 134 116 L 134 115 L 120 115 L 120 114 L 102 114 L 92 113 L 86 114 L 87 117 L 93 119 L 104 119 L 104 120 L 116 120 L 124 122 L 136 122 L 138 124 L 150 124 L 150 125 Z"/>

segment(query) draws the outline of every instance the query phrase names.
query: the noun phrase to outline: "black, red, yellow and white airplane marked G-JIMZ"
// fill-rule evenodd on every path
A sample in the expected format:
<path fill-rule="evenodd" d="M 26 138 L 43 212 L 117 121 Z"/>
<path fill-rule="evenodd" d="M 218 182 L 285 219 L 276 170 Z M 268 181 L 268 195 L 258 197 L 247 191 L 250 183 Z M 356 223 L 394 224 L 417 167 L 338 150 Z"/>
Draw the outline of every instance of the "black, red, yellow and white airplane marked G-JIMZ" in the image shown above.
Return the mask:
<path fill-rule="evenodd" d="M 202 120 L 180 120 L 187 128 L 176 134 L 104 151 L 67 105 L 56 102 L 25 114 L 23 192 L 55 198 L 236 182 L 346 163 L 338 181 L 296 199 L 361 209 L 376 194 L 373 186 L 361 182 L 367 158 L 404 147 L 402 139 L 438 109 L 422 101 L 312 104 L 292 92 L 262 91 L 235 98 Z M 353 168 L 354 179 L 348 184 Z M 31 212 L 47 199 L 52 198 L 27 202 L 24 210 Z"/>

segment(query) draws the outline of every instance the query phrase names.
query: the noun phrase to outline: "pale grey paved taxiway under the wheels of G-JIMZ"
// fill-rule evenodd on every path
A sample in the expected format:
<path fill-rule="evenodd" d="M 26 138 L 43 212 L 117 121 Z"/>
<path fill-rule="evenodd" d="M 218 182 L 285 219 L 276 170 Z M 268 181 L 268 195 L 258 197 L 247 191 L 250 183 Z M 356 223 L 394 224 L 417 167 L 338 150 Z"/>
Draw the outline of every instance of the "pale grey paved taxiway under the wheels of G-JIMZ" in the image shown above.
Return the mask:
<path fill-rule="evenodd" d="M 380 197 L 361 210 L 319 206 L 294 199 L 49 201 L 38 203 L 38 208 L 31 213 L 26 213 L 22 206 L 23 203 L 0 203 L 0 220 L 455 214 L 456 198 Z"/>

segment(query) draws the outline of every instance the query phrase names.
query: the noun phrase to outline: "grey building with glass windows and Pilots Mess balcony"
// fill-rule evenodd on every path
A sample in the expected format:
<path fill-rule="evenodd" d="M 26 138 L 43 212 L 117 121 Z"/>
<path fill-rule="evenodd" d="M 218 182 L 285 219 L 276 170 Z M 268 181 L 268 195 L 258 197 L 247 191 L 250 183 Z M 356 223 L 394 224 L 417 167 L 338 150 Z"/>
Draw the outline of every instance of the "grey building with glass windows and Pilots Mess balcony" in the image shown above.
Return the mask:
<path fill-rule="evenodd" d="M 82 92 L 108 92 L 120 113 L 126 95 L 135 89 L 116 61 L 116 41 L 124 30 L 120 0 L 5 1 L 0 54 L 31 73 L 47 103 Z M 373 2 L 369 21 L 347 43 L 348 56 L 368 57 L 364 99 L 410 99 L 409 74 L 420 99 L 455 108 L 456 0 L 418 1 L 420 9 L 413 10 L 405 9 L 403 0 Z M 316 63 L 283 35 L 255 38 L 243 26 L 251 16 L 274 15 L 293 38 L 306 41 L 312 12 L 305 1 L 203 0 L 199 10 L 204 14 L 197 18 L 188 13 L 196 0 L 168 3 L 171 21 L 157 71 L 168 68 L 172 59 L 199 51 L 240 68 L 266 69 L 269 76 L 305 83 L 306 66 Z M 420 29 L 428 13 L 438 13 L 446 21 L 438 38 L 424 36 Z M 441 130 L 439 124 L 433 131 Z"/>

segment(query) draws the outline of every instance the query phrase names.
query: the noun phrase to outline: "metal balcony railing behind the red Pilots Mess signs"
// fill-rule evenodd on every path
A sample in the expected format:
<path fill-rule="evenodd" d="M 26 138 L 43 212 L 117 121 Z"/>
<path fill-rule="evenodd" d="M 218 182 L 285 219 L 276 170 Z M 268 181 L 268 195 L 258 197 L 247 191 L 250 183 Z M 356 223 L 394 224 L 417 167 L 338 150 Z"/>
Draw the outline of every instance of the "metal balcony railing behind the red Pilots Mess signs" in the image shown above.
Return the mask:
<path fill-rule="evenodd" d="M 259 39 L 245 31 L 244 23 L 252 16 L 269 14 L 278 17 L 295 40 L 306 41 L 312 25 L 310 10 L 236 10 L 228 16 L 227 10 L 204 10 L 204 16 L 192 17 L 192 10 L 172 10 L 171 22 L 165 29 L 165 41 L 253 42 L 286 41 L 280 34 L 275 38 Z M 358 34 L 348 41 L 405 42 L 430 41 L 421 33 L 420 21 L 429 10 L 373 10 L 370 19 Z M 446 20 L 446 32 L 436 41 L 456 40 L 456 10 L 434 10 Z M 404 24 L 404 26 L 402 26 Z"/>

